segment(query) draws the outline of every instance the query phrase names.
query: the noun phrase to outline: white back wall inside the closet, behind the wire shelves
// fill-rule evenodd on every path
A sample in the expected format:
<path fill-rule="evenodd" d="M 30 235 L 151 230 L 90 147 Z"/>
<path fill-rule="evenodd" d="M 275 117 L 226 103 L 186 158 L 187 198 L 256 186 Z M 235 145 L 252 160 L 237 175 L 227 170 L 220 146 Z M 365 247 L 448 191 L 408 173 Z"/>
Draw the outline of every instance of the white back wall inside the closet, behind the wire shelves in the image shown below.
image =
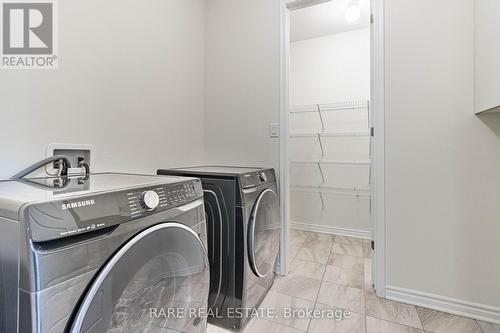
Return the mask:
<path fill-rule="evenodd" d="M 290 46 L 292 228 L 371 237 L 370 32 Z"/>

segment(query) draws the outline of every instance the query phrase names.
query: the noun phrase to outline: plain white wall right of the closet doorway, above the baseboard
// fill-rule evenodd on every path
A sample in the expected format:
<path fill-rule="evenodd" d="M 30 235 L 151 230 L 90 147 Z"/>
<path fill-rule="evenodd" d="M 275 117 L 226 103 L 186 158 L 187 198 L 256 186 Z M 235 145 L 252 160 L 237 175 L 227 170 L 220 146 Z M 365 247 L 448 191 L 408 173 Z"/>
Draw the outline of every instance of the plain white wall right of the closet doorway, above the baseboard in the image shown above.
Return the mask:
<path fill-rule="evenodd" d="M 387 283 L 500 307 L 500 117 L 473 113 L 473 2 L 386 1 Z"/>

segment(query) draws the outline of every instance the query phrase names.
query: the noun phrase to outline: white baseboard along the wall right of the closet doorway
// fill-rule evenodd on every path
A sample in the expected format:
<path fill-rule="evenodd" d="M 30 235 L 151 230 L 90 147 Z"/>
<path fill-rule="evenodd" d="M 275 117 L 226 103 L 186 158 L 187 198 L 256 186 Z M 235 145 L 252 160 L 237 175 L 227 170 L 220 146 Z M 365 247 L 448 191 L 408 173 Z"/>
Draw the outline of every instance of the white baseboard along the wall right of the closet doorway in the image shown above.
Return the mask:
<path fill-rule="evenodd" d="M 416 290 L 387 286 L 386 297 L 393 301 L 500 324 L 500 308 Z"/>

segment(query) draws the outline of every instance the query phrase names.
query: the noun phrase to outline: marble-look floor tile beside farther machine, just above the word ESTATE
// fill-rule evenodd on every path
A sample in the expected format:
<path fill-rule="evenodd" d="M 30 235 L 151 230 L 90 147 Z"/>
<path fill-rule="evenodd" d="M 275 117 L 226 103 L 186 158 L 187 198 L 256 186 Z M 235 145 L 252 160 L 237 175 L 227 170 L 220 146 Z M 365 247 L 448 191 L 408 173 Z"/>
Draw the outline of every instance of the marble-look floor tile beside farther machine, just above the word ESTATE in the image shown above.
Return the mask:
<path fill-rule="evenodd" d="M 276 279 L 271 290 L 314 302 L 318 296 L 320 286 L 320 280 L 289 274 Z"/>

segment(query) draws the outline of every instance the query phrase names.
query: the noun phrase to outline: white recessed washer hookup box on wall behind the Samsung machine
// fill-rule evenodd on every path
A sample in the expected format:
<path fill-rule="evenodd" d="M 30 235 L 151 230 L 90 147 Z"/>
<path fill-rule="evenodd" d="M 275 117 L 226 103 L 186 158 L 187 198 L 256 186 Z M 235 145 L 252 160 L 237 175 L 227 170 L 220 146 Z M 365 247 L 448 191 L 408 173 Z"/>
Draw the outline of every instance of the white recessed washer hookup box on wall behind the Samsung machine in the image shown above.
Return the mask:
<path fill-rule="evenodd" d="M 78 167 L 81 161 L 84 161 L 92 171 L 94 146 L 89 144 L 69 144 L 69 143 L 52 143 L 47 147 L 47 157 L 64 155 L 68 157 L 71 168 L 68 169 L 68 174 L 83 174 L 85 168 Z M 45 168 L 48 175 L 57 174 L 53 164 L 49 164 Z"/>

